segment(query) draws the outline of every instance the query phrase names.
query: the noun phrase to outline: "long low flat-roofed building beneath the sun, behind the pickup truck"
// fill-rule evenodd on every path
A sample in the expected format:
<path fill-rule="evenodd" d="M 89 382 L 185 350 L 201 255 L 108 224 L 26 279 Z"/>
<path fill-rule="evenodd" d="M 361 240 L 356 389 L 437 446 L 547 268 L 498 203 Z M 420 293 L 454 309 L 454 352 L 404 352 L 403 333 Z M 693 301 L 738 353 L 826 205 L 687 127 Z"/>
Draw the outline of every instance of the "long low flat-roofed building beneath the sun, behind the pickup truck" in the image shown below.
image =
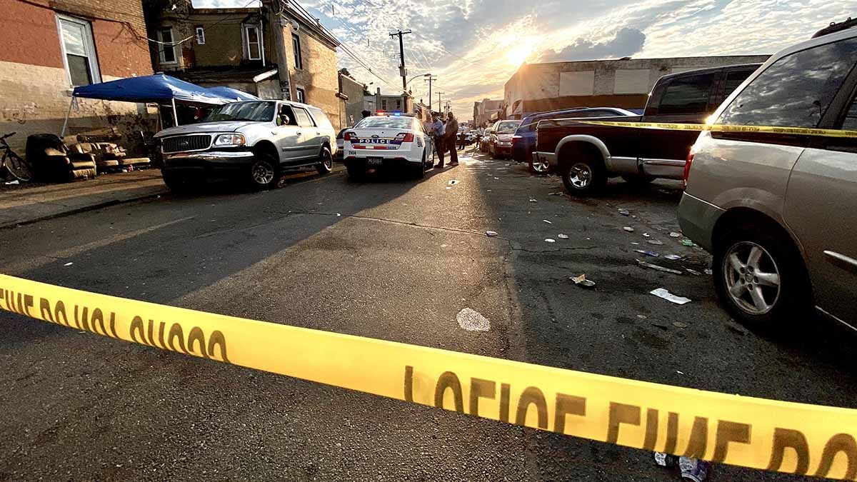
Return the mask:
<path fill-rule="evenodd" d="M 642 109 L 663 75 L 739 63 L 764 63 L 767 55 L 623 58 L 580 62 L 524 63 L 509 81 L 505 118 L 570 107 Z"/>

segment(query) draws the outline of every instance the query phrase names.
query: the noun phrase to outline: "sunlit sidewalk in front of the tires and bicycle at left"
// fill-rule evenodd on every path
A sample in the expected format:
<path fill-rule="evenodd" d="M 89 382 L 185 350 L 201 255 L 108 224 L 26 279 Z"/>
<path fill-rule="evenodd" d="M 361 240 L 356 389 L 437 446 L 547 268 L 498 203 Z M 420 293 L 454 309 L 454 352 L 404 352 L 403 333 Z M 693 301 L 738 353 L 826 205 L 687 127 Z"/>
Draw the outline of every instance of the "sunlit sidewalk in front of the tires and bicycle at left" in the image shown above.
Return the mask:
<path fill-rule="evenodd" d="M 165 194 L 159 169 L 66 184 L 0 183 L 0 228 Z"/>

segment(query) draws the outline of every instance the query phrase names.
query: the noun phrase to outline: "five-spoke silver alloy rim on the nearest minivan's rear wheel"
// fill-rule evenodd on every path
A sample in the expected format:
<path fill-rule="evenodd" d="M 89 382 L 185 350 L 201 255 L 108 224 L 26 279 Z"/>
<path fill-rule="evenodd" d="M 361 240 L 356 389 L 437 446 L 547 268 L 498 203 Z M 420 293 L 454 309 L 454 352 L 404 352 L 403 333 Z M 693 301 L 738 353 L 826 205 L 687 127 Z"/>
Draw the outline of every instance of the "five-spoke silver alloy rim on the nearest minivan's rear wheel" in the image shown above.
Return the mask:
<path fill-rule="evenodd" d="M 736 243 L 723 257 L 723 278 L 729 298 L 751 315 L 764 315 L 780 298 L 780 270 L 762 246 Z"/>

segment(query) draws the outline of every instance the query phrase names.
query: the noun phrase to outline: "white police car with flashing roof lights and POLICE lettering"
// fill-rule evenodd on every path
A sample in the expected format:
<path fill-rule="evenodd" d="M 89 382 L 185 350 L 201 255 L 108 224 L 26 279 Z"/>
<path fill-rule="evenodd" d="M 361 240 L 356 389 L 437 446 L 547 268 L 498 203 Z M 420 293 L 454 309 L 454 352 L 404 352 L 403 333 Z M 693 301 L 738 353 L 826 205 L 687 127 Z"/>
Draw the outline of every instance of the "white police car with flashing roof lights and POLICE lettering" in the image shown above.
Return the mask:
<path fill-rule="evenodd" d="M 350 178 L 363 178 L 370 169 L 397 166 L 422 178 L 432 166 L 432 138 L 416 117 L 366 117 L 346 130 L 343 140 L 343 160 Z"/>

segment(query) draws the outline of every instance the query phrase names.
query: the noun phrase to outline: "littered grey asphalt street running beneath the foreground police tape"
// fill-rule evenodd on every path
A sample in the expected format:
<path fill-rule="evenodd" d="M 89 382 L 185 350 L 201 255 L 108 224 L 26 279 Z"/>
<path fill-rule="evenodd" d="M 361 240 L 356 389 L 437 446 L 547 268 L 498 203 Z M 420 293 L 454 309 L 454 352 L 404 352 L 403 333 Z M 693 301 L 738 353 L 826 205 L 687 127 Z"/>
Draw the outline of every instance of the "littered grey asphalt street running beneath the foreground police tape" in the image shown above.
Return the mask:
<path fill-rule="evenodd" d="M 678 230 L 679 184 L 634 190 L 611 182 L 605 196 L 588 200 L 560 192 L 558 178 L 483 156 L 420 182 L 353 183 L 339 167 L 279 190 L 215 188 L 0 230 L 0 270 L 617 377 L 857 405 L 854 337 L 842 328 L 812 321 L 800 336 L 747 332 L 719 309 L 707 276 L 638 267 L 641 249 L 685 256 L 646 260 L 662 266 L 707 268 L 702 250 L 668 235 Z M 596 290 L 568 280 L 578 274 Z M 659 287 L 693 301 L 679 306 L 649 294 Z M 459 327 L 464 308 L 488 317 L 490 329 Z M 639 450 L 4 312 L 0 366 L 0 480 L 678 479 Z M 714 467 L 710 476 L 791 479 L 736 467 Z"/>

